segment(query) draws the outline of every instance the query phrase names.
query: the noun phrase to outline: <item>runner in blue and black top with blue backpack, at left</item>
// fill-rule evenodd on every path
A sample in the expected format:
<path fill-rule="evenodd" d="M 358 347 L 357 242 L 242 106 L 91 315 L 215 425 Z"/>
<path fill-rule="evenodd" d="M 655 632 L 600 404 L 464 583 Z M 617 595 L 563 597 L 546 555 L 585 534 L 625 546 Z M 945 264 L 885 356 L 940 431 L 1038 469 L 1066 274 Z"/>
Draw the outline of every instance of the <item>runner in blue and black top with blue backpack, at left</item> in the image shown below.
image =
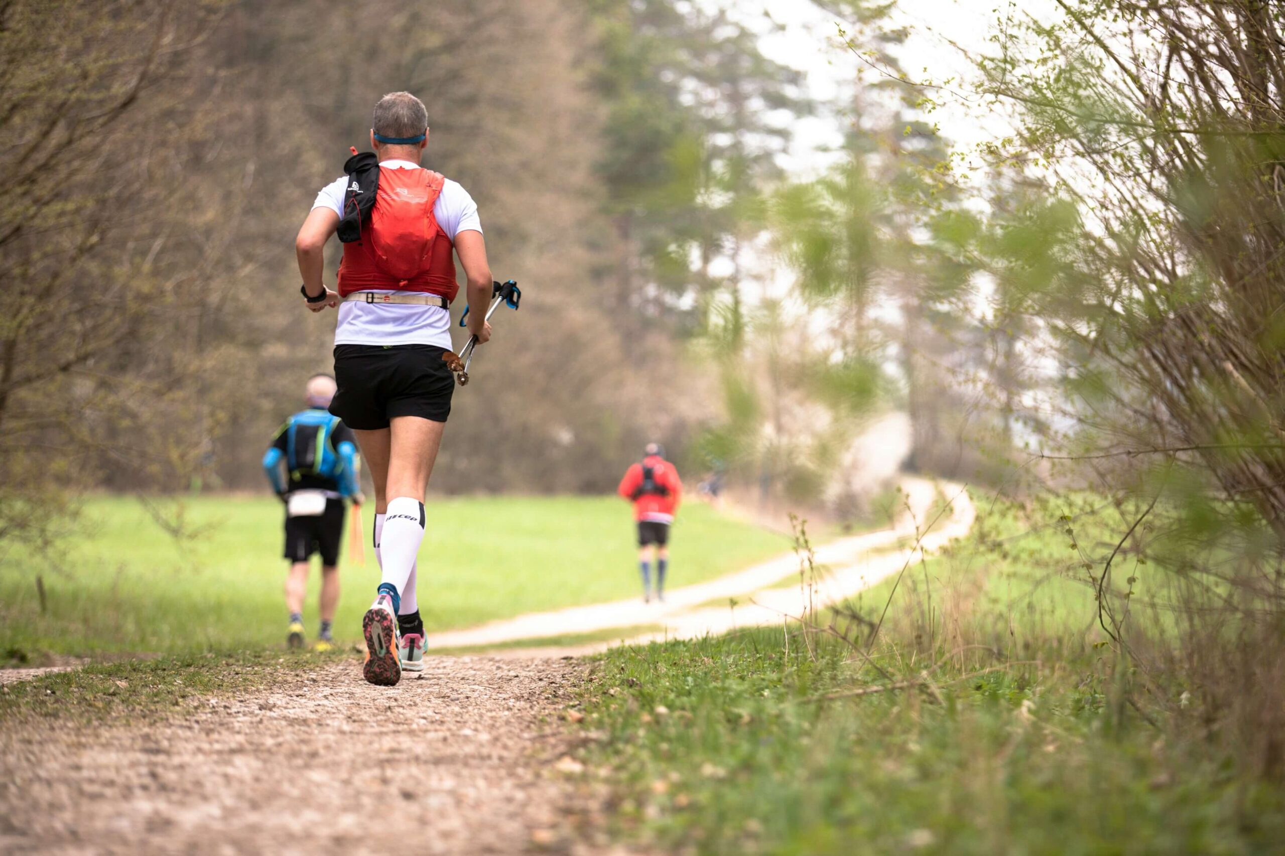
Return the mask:
<path fill-rule="evenodd" d="M 339 540 L 343 535 L 343 499 L 361 505 L 357 447 L 352 432 L 326 413 L 334 397 L 334 378 L 308 378 L 307 410 L 289 419 L 272 437 L 263 455 L 263 472 L 285 503 L 285 607 L 290 626 L 285 641 L 303 646 L 303 598 L 308 585 L 308 559 L 321 554 L 321 630 L 316 650 L 329 650 L 330 625 L 339 605 Z M 285 474 L 281 464 L 285 464 Z"/>

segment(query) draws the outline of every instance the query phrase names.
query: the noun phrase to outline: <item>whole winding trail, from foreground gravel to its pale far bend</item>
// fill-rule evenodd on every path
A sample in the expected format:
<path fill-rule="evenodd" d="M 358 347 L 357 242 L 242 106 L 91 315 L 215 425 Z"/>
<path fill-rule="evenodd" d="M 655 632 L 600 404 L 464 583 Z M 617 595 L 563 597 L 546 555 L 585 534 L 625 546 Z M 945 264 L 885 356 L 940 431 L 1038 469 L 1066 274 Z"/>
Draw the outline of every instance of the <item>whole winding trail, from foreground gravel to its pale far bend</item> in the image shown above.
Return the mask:
<path fill-rule="evenodd" d="M 650 613 L 636 600 L 599 604 L 437 634 L 433 645 L 640 621 L 663 622 L 669 638 L 779 625 L 968 533 L 973 504 L 944 488 L 951 513 L 932 526 L 924 515 L 937 487 L 915 481 L 912 514 L 896 527 L 820 548 L 830 572 L 811 604 L 799 586 L 771 587 L 798 572 L 786 555 L 678 589 Z M 916 533 L 915 546 L 897 546 Z M 718 598 L 747 602 L 704 605 Z M 394 688 L 366 684 L 353 661 L 287 671 L 233 698 L 193 698 L 141 722 L 9 721 L 0 852 L 619 853 L 601 821 L 607 803 L 587 796 L 596 793 L 587 779 L 565 775 L 582 772 L 565 757 L 572 735 L 559 724 L 581 680 L 577 661 L 532 649 L 432 657 L 421 677 Z"/>

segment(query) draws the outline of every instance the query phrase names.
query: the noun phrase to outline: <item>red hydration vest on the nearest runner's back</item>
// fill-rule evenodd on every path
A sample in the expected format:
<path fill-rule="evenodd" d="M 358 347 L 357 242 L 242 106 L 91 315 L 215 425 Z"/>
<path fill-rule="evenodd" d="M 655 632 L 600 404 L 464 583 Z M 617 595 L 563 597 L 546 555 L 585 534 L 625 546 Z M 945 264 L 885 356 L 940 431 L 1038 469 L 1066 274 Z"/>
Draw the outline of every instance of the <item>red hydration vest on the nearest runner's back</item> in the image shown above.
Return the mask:
<path fill-rule="evenodd" d="M 446 179 L 432 170 L 379 167 L 379 192 L 361 240 L 343 245 L 339 296 L 387 289 L 455 299 L 455 244 L 433 206 Z"/>

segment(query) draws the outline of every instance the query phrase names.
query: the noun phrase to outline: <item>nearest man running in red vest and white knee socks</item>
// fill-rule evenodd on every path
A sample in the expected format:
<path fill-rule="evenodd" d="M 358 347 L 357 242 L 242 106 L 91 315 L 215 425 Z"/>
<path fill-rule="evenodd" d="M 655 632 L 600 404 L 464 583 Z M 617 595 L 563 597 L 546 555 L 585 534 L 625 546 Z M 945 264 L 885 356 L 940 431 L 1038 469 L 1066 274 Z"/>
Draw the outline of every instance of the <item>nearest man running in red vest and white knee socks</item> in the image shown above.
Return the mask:
<path fill-rule="evenodd" d="M 468 278 L 469 332 L 491 338 L 491 298 L 482 224 L 455 181 L 420 167 L 428 112 L 410 93 L 375 104 L 374 156 L 353 154 L 326 185 L 296 239 L 301 290 L 319 312 L 339 307 L 330 413 L 353 429 L 375 483 L 375 557 L 382 578 L 362 620 L 371 684 L 393 685 L 424 668 L 424 622 L 416 600 L 416 554 L 424 539 L 424 492 L 451 411 L 455 261 Z M 321 281 L 323 251 L 339 233 L 338 290 Z"/>

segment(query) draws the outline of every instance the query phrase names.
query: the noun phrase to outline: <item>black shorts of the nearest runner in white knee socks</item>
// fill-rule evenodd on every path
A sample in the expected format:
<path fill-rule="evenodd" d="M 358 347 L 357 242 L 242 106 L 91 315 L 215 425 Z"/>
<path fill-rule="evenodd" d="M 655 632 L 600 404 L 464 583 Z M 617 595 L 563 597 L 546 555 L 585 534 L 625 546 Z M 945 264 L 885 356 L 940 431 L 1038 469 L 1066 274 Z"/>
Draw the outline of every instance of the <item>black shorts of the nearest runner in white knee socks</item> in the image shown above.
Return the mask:
<path fill-rule="evenodd" d="M 338 391 L 330 413 L 357 431 L 387 428 L 393 416 L 446 422 L 455 375 L 433 344 L 337 344 Z"/>

